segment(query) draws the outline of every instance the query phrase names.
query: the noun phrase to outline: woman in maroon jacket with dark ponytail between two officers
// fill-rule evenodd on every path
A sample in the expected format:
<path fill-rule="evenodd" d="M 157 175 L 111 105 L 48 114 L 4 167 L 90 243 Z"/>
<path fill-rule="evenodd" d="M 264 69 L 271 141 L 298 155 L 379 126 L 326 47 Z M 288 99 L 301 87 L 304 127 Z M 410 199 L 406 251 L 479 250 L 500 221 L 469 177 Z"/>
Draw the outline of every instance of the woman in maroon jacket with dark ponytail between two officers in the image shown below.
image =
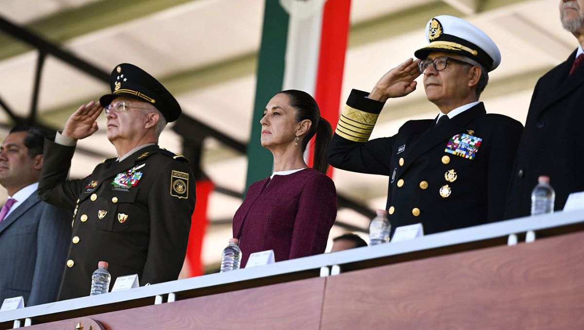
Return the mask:
<path fill-rule="evenodd" d="M 274 173 L 253 183 L 233 218 L 233 237 L 249 255 L 274 250 L 276 261 L 324 253 L 336 218 L 336 189 L 326 176 L 325 150 L 331 124 L 321 118 L 308 93 L 286 90 L 266 105 L 262 146 L 274 156 Z M 308 168 L 304 151 L 316 134 L 314 166 Z"/>

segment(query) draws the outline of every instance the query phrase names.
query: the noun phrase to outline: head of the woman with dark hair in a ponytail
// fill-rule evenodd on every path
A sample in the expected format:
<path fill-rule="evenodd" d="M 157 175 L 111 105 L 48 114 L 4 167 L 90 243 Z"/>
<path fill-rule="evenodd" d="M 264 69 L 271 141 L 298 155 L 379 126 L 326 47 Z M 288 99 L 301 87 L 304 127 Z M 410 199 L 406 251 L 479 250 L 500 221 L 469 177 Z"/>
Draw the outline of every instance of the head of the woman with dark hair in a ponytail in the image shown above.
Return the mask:
<path fill-rule="evenodd" d="M 321 118 L 317 101 L 304 91 L 285 90 L 276 94 L 266 105 L 262 125 L 262 146 L 276 154 L 304 154 L 308 141 L 316 135 L 314 168 L 326 173 L 325 150 L 332 138 L 332 128 Z"/>

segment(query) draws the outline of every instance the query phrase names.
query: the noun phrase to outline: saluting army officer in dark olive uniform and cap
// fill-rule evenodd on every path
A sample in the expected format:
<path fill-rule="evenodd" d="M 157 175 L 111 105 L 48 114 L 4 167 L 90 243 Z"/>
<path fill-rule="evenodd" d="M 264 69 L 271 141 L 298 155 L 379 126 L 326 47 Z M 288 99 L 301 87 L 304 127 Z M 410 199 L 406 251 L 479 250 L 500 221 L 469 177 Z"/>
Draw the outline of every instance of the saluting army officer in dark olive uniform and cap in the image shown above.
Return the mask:
<path fill-rule="evenodd" d="M 187 160 L 158 147 L 180 106 L 150 74 L 130 64 L 112 72 L 112 94 L 82 105 L 55 141 L 45 141 L 40 197 L 74 209 L 73 237 L 59 300 L 88 296 L 99 261 L 112 281 L 138 274 L 140 285 L 178 278 L 186 254 L 194 182 Z M 67 180 L 75 143 L 98 130 L 105 107 L 107 138 L 117 158 L 81 180 Z"/>

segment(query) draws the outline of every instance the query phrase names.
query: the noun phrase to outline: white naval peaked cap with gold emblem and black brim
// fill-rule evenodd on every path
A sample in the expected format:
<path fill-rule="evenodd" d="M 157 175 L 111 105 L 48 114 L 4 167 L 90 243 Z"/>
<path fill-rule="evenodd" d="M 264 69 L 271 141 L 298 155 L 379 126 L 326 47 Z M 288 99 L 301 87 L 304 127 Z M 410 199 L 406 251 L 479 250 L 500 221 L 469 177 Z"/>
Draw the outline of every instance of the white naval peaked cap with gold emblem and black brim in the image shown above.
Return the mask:
<path fill-rule="evenodd" d="M 472 58 L 488 71 L 495 70 L 501 63 L 501 52 L 495 42 L 478 27 L 455 16 L 433 17 L 426 24 L 426 40 L 429 44 L 413 53 L 419 59 L 442 51 Z"/>

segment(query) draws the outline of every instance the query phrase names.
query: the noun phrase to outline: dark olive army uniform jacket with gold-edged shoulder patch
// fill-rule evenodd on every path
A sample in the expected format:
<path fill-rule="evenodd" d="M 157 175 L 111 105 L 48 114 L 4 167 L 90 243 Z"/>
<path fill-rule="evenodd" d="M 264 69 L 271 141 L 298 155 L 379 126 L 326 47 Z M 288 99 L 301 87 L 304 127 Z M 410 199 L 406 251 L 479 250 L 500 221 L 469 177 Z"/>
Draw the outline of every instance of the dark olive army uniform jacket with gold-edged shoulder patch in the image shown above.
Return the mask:
<path fill-rule="evenodd" d="M 74 150 L 46 140 L 39 182 L 43 200 L 75 210 L 59 300 L 89 295 L 99 261 L 109 263 L 112 282 L 132 274 L 141 285 L 178 278 L 195 203 L 186 159 L 152 145 L 67 180 Z"/>

